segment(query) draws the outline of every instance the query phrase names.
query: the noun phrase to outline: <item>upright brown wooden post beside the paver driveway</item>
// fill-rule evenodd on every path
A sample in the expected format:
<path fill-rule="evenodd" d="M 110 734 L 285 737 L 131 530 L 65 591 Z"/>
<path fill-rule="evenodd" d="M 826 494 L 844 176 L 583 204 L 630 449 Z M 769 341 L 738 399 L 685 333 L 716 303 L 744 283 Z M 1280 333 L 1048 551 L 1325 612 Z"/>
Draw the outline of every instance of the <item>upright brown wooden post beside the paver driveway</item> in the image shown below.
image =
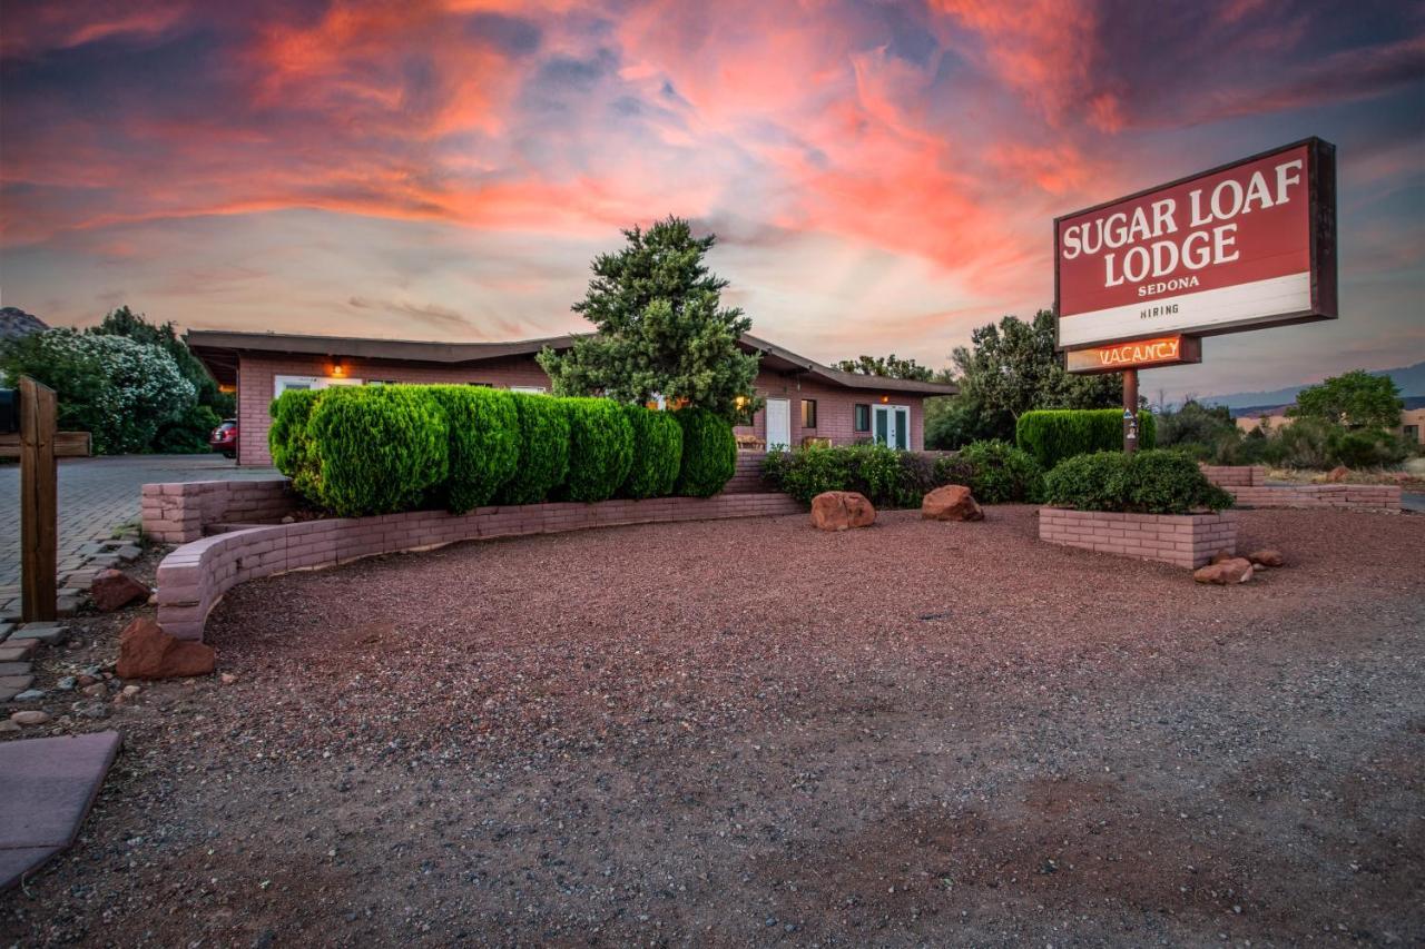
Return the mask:
<path fill-rule="evenodd" d="M 20 376 L 20 618 L 58 618 L 58 466 L 54 389 Z"/>

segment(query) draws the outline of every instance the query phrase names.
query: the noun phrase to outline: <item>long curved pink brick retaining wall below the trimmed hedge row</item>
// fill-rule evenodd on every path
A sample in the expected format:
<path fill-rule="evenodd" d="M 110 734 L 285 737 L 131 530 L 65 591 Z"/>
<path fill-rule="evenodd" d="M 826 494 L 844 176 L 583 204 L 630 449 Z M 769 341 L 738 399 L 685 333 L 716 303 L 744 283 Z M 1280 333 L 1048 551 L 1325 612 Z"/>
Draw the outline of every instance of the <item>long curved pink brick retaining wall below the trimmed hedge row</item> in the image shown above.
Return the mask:
<path fill-rule="evenodd" d="M 145 486 L 145 492 L 147 487 L 184 486 Z M 167 499 L 184 494 L 160 492 L 154 496 Z M 145 493 L 145 500 L 148 497 Z M 608 500 L 598 504 L 566 502 L 480 507 L 469 514 L 422 510 L 245 527 L 185 543 L 164 557 L 158 564 L 158 623 L 172 636 L 201 640 L 208 611 L 224 593 L 239 583 L 399 550 L 586 527 L 799 513 L 801 506 L 785 494 L 718 494 Z M 187 524 L 184 520 L 182 527 L 187 529 Z"/>

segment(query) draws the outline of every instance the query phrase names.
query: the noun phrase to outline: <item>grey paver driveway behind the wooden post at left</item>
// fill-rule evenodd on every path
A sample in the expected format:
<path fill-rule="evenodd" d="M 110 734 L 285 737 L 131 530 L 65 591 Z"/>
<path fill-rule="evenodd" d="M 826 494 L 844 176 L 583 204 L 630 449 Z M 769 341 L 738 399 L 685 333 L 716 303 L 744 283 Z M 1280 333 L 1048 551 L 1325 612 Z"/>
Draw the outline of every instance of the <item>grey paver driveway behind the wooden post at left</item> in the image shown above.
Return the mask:
<path fill-rule="evenodd" d="M 60 462 L 60 576 L 86 560 L 84 546 L 137 523 L 140 487 L 150 482 L 274 477 L 221 455 L 121 455 Z M 20 466 L 0 466 L 0 613 L 20 590 Z M 14 604 L 16 608 L 19 603 Z"/>

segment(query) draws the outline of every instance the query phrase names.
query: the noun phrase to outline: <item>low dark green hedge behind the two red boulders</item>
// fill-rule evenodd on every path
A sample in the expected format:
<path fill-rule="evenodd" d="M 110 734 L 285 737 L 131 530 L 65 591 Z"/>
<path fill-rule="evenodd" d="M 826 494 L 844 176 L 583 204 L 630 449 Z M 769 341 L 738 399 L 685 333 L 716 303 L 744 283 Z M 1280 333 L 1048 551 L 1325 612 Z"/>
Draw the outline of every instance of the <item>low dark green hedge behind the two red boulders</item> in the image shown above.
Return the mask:
<path fill-rule="evenodd" d="M 975 442 L 939 459 L 884 445 L 812 446 L 771 452 L 762 474 L 804 504 L 822 492 L 858 492 L 876 507 L 919 507 L 940 484 L 965 484 L 999 504 L 1036 502 L 1043 489 L 1039 463 L 1005 442 Z"/>

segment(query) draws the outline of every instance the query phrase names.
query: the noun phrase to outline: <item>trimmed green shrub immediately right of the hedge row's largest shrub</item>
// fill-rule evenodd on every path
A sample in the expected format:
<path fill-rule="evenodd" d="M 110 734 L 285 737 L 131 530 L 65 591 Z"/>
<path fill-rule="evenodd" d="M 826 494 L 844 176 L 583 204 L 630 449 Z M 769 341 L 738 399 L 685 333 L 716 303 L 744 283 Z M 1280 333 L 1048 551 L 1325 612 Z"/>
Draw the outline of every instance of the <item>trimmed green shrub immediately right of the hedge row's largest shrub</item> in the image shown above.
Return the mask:
<path fill-rule="evenodd" d="M 483 386 L 422 386 L 446 418 L 450 477 L 435 500 L 463 514 L 489 504 L 520 462 L 520 419 L 514 396 Z"/>

